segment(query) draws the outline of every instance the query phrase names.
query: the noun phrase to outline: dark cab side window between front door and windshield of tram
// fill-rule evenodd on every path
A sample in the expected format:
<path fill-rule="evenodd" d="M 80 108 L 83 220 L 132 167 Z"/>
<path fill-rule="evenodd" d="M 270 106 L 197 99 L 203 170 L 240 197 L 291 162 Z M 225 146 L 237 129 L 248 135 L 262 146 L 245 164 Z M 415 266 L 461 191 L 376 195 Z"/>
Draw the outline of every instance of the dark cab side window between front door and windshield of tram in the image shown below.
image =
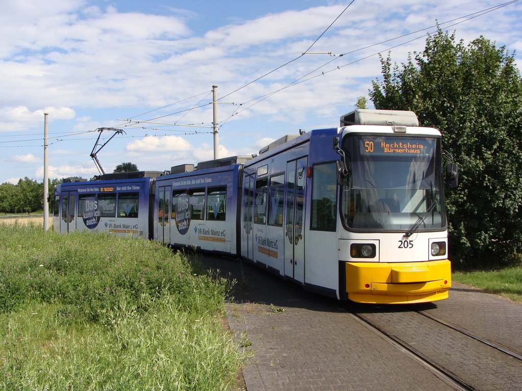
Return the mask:
<path fill-rule="evenodd" d="M 337 174 L 336 164 L 314 165 L 312 182 L 312 229 L 336 230 Z"/>

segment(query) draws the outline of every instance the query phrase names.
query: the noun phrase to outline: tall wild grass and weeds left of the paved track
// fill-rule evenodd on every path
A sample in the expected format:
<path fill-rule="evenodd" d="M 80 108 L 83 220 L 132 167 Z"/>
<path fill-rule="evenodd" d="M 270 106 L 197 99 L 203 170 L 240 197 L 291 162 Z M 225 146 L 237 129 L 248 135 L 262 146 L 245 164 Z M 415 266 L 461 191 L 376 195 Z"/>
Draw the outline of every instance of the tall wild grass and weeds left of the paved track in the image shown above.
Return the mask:
<path fill-rule="evenodd" d="M 0 388 L 226 390 L 220 278 L 158 243 L 0 223 Z"/>

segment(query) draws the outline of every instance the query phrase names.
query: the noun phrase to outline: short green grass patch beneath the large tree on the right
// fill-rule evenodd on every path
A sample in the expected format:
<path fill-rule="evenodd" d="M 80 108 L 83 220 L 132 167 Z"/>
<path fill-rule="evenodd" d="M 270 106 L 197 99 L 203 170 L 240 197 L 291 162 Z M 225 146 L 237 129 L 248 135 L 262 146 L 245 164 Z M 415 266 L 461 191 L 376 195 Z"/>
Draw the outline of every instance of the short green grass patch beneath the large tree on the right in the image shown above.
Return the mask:
<path fill-rule="evenodd" d="M 522 266 L 502 270 L 454 272 L 454 281 L 522 302 Z"/>

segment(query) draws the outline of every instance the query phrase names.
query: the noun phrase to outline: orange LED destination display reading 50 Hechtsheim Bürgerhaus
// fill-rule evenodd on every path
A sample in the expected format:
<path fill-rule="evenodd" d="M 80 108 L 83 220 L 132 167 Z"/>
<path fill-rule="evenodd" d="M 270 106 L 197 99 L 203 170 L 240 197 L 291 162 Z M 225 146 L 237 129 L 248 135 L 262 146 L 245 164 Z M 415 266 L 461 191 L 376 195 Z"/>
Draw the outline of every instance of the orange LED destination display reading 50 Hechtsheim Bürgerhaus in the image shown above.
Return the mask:
<path fill-rule="evenodd" d="M 362 155 L 425 155 L 434 145 L 432 139 L 364 137 L 359 141 Z"/>

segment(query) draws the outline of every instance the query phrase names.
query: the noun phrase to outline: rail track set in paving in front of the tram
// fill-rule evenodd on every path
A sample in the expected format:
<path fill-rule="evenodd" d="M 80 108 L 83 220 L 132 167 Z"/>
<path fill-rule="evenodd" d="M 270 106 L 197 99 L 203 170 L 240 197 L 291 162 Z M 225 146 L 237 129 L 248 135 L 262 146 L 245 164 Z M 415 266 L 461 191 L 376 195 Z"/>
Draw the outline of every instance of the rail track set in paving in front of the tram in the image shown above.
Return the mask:
<path fill-rule="evenodd" d="M 522 389 L 522 355 L 437 319 L 429 311 L 343 307 L 456 390 Z"/>

